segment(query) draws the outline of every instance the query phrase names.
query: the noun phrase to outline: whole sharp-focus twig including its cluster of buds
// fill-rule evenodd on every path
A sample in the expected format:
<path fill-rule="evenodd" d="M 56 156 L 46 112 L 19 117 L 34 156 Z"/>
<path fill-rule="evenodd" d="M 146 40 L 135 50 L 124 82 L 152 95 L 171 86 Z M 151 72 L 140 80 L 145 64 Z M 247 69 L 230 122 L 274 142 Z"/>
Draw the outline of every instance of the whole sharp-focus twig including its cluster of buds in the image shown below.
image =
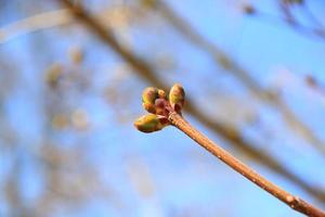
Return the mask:
<path fill-rule="evenodd" d="M 153 87 L 146 88 L 142 94 L 143 107 L 152 114 L 140 117 L 134 123 L 134 126 L 142 132 L 154 132 L 161 130 L 168 125 L 172 125 L 227 166 L 232 167 L 245 178 L 281 200 L 292 209 L 310 217 L 325 217 L 323 210 L 272 183 L 191 126 L 190 123 L 182 117 L 181 111 L 184 101 L 185 92 L 179 84 L 173 85 L 170 89 L 168 99 L 164 90 Z"/>

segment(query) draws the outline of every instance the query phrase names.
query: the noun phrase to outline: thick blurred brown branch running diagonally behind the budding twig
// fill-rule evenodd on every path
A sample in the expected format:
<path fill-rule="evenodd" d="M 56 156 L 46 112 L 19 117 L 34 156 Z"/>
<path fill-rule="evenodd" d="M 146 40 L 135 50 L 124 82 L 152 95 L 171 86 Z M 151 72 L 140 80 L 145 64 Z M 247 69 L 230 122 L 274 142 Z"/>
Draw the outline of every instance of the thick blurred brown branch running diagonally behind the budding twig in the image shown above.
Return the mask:
<path fill-rule="evenodd" d="M 107 28 L 92 15 L 90 15 L 80 5 L 77 8 L 69 0 L 60 0 L 65 3 L 70 12 L 79 18 L 82 24 L 87 28 L 91 30 L 91 33 L 95 34 L 105 44 L 107 44 L 110 49 L 113 49 L 116 54 L 118 54 L 121 59 L 129 63 L 129 65 L 134 69 L 141 78 L 146 80 L 147 82 L 167 89 L 167 85 L 161 82 L 160 79 L 155 74 L 154 68 L 146 63 L 144 60 L 140 59 L 135 54 L 133 54 L 130 50 L 125 48 L 118 40 L 114 37 L 113 30 Z M 253 148 L 253 145 L 246 142 L 239 132 L 231 126 L 223 125 L 218 122 L 211 122 L 211 118 L 207 117 L 197 106 L 194 105 L 188 99 L 186 100 L 186 111 L 188 114 L 196 117 L 203 124 L 205 124 L 208 128 L 213 130 L 216 133 L 220 135 L 223 139 L 230 141 L 231 144 L 235 145 L 237 149 L 240 149 L 246 154 L 250 155 L 251 158 L 257 162 L 262 163 L 268 166 L 272 170 L 282 176 L 286 177 L 288 180 L 291 180 L 300 188 L 304 189 L 307 192 L 318 199 L 320 201 L 325 201 L 325 193 L 320 191 L 318 189 L 314 189 L 309 186 L 306 181 L 297 177 L 295 174 L 280 165 L 276 159 L 274 159 L 271 155 L 263 153 L 260 150 Z"/>

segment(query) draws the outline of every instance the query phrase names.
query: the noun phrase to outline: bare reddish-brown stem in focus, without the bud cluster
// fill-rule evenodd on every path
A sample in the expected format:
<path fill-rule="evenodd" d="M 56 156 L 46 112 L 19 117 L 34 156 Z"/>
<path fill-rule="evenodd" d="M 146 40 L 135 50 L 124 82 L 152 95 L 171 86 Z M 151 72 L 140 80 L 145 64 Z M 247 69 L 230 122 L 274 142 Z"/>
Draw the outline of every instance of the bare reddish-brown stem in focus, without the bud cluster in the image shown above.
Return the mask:
<path fill-rule="evenodd" d="M 292 209 L 310 217 L 325 217 L 325 213 L 323 210 L 281 189 L 280 187 L 263 178 L 253 169 L 238 161 L 236 157 L 227 153 L 218 144 L 209 140 L 206 136 L 192 127 L 190 123 L 187 123 L 181 115 L 177 114 L 176 112 L 171 112 L 168 116 L 168 119 L 174 127 L 183 131 L 194 141 L 196 141 L 200 146 L 205 148 L 211 154 L 220 158 L 223 163 L 242 174 L 245 178 L 259 186 L 264 191 L 286 203 Z"/>

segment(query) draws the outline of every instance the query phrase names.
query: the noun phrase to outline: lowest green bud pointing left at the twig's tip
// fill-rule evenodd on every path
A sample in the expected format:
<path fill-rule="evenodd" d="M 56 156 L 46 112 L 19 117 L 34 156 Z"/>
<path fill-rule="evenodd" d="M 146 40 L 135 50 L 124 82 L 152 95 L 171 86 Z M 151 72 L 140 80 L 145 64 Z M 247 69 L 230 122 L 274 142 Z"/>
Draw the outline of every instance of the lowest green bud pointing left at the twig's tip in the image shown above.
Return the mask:
<path fill-rule="evenodd" d="M 164 123 L 164 124 L 162 124 Z M 168 123 L 160 120 L 157 115 L 147 114 L 135 120 L 134 127 L 142 132 L 154 132 L 166 127 Z"/>

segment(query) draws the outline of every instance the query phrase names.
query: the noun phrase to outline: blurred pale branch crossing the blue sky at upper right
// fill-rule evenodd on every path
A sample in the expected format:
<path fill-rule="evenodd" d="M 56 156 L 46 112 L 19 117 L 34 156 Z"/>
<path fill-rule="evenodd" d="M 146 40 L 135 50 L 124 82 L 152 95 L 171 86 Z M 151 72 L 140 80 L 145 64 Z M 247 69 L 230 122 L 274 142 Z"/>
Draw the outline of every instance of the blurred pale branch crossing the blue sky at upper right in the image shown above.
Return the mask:
<path fill-rule="evenodd" d="M 192 41 L 194 44 L 209 53 L 218 65 L 221 65 L 225 71 L 237 77 L 260 101 L 265 101 L 274 108 L 278 110 L 287 125 L 290 126 L 289 129 L 296 129 L 318 152 L 325 155 L 324 141 L 317 138 L 314 132 L 297 117 L 290 107 L 283 102 L 282 99 L 260 87 L 258 81 L 250 76 L 249 72 L 232 60 L 214 43 L 211 43 L 203 35 L 197 33 L 188 22 L 179 16 L 167 3 L 160 0 L 154 0 L 154 2 L 155 3 L 152 5 L 160 12 L 160 14 L 171 24 L 171 26 L 174 27 L 176 30 L 178 30 L 185 39 Z"/>

